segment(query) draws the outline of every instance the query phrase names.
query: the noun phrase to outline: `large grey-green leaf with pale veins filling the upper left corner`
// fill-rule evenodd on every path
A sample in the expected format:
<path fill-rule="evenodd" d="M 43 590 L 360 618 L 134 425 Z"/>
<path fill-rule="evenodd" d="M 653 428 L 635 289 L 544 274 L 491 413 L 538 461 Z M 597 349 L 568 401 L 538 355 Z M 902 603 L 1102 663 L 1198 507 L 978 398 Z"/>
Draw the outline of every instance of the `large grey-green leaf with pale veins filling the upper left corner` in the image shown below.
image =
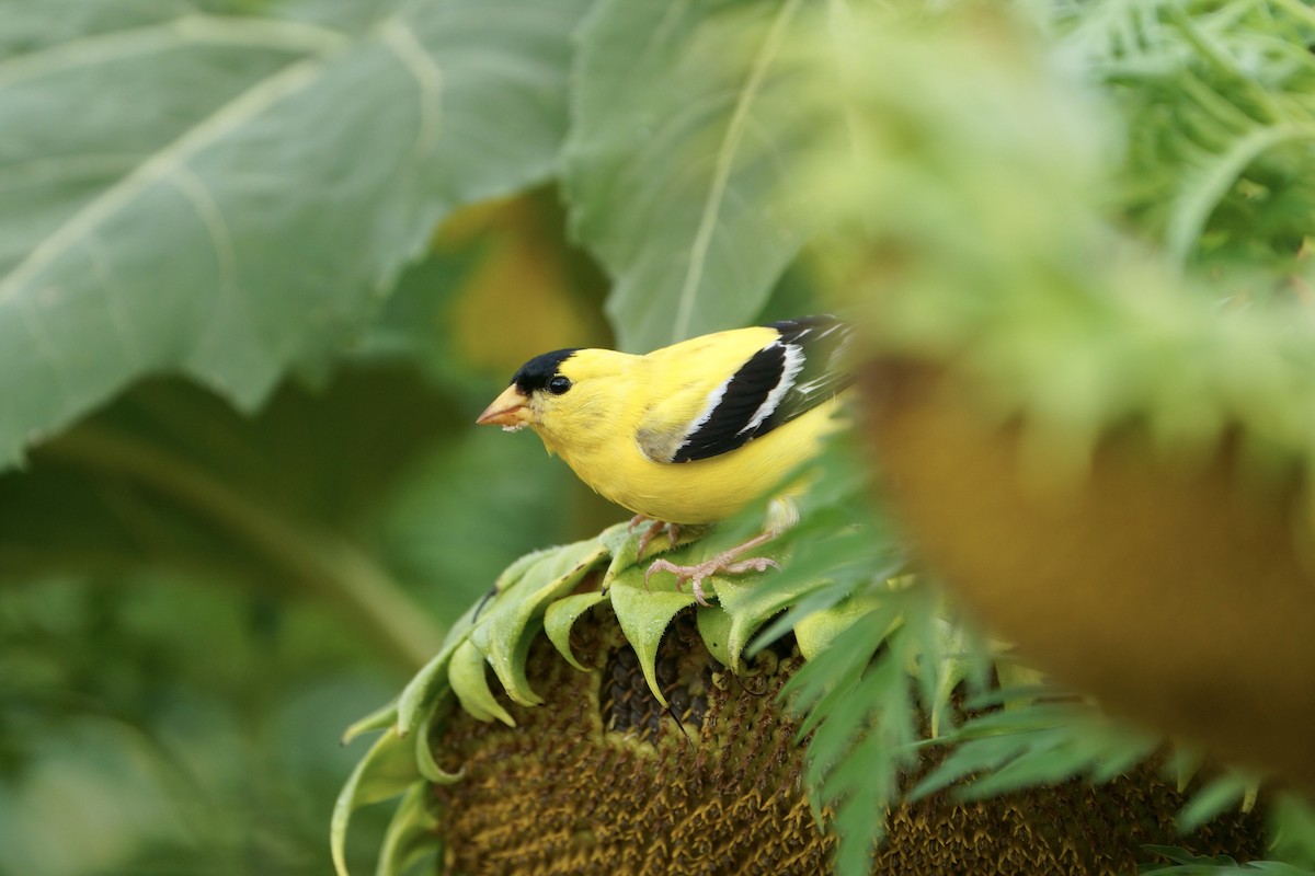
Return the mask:
<path fill-rule="evenodd" d="M 339 343 L 552 169 L 583 7 L 0 0 L 0 465 L 141 374 L 251 406 Z"/>

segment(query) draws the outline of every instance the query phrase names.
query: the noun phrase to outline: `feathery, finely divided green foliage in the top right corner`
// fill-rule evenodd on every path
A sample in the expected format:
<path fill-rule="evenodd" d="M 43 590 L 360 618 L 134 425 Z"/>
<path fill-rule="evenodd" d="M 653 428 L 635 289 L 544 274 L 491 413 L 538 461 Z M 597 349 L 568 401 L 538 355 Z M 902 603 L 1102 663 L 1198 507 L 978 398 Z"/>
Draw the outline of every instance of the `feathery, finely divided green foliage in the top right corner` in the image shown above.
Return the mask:
<path fill-rule="evenodd" d="M 1166 255 L 1299 268 L 1315 214 L 1308 4 L 1106 1 L 1052 13 L 1057 45 L 1126 120 L 1123 206 Z"/>

